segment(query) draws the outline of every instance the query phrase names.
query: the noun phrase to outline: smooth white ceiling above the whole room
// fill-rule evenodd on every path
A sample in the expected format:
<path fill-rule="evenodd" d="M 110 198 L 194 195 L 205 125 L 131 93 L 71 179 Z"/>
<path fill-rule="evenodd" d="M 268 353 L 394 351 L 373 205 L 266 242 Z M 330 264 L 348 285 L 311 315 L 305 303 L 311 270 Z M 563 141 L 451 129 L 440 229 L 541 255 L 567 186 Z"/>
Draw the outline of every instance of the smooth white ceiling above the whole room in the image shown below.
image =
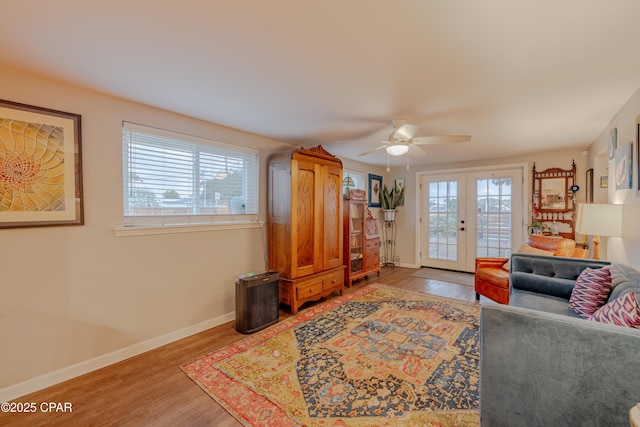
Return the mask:
<path fill-rule="evenodd" d="M 383 151 L 357 154 L 386 139 L 392 119 L 418 136 L 472 135 L 412 164 L 584 148 L 640 87 L 637 0 L 2 0 L 0 10 L 0 62 L 379 165 Z"/>

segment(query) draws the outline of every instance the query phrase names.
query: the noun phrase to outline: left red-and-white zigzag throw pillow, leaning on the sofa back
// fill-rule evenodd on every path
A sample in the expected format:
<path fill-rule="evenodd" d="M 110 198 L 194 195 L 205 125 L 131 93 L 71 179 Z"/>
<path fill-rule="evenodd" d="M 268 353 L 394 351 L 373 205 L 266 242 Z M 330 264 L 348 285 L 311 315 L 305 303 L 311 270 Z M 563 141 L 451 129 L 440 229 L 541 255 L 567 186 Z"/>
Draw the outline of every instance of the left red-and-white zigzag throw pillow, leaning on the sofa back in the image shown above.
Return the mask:
<path fill-rule="evenodd" d="M 611 292 L 609 267 L 585 268 L 571 291 L 569 308 L 582 317 L 589 317 L 602 307 Z"/>

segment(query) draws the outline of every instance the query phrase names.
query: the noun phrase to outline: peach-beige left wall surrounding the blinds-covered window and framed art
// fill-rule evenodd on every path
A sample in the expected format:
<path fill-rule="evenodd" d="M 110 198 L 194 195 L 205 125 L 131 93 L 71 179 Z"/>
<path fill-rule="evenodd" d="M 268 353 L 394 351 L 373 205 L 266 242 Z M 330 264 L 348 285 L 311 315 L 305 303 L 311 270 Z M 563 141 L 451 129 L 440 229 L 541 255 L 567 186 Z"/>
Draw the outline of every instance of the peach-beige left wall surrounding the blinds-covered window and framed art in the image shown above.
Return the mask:
<path fill-rule="evenodd" d="M 7 67 L 0 93 L 82 115 L 85 197 L 84 226 L 0 229 L 0 401 L 228 320 L 266 229 L 116 237 L 122 121 L 259 148 L 263 221 L 267 158 L 288 145 Z"/>

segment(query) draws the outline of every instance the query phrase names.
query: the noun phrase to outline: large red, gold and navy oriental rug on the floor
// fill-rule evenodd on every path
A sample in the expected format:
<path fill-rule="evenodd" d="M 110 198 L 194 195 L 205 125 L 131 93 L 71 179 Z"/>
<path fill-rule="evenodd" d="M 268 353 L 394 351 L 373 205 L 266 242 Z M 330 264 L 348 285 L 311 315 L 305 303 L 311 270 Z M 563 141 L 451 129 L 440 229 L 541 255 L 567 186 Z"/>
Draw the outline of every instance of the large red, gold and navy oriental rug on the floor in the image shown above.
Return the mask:
<path fill-rule="evenodd" d="M 478 316 L 369 285 L 181 368 L 246 426 L 477 426 Z"/>

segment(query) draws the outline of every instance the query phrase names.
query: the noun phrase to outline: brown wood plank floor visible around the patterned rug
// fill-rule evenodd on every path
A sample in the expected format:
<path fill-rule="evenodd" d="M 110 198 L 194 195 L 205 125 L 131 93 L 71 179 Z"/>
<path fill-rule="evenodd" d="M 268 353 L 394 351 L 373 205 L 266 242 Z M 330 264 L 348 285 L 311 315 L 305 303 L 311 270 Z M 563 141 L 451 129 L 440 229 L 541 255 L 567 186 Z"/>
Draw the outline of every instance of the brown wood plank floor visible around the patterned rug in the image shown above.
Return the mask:
<path fill-rule="evenodd" d="M 370 283 L 383 283 L 475 302 L 472 286 L 411 277 L 415 271 L 385 267 L 380 276 L 361 279 L 346 292 Z M 305 304 L 302 309 L 308 306 Z M 291 315 L 286 308 L 283 306 L 280 310 L 281 320 Z M 229 322 L 15 399 L 15 403 L 33 402 L 38 410 L 35 413 L 0 412 L 0 426 L 240 426 L 179 366 L 244 337 L 246 335 L 237 332 L 233 322 Z M 42 412 L 43 402 L 62 405 L 69 402 L 72 412 Z"/>

